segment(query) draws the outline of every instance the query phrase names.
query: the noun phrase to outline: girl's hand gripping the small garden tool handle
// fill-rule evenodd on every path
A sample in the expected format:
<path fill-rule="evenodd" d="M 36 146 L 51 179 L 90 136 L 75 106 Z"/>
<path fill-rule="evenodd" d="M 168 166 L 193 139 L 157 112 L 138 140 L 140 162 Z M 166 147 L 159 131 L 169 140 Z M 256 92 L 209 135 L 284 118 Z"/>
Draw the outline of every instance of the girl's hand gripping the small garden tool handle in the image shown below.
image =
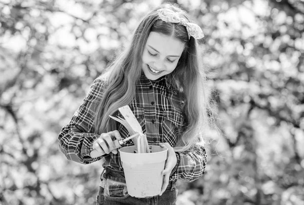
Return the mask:
<path fill-rule="evenodd" d="M 93 149 L 95 149 L 100 154 L 100 156 L 109 154 L 110 152 L 117 154 L 117 148 L 120 148 L 121 146 L 119 143 L 117 143 L 118 145 L 114 144 L 113 141 L 115 140 L 122 140 L 122 137 L 118 130 L 102 133 L 100 134 L 99 138 L 93 143 Z"/>

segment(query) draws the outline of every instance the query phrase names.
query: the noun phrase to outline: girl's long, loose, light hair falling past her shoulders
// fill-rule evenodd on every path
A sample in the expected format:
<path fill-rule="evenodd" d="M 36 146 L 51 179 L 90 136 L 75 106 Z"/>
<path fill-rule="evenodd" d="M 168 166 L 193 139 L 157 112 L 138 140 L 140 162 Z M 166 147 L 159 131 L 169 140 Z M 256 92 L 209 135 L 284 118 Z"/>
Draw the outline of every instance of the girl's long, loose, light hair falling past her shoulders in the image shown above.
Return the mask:
<path fill-rule="evenodd" d="M 188 38 L 183 25 L 160 20 L 157 10 L 161 8 L 171 9 L 189 22 L 183 10 L 177 5 L 168 3 L 143 18 L 135 30 L 130 46 L 111 62 L 106 72 L 100 76 L 107 80 L 107 87 L 96 110 L 95 132 L 101 134 L 117 128 L 116 122 L 108 116 L 115 115 L 118 108 L 129 105 L 135 99 L 136 85 L 142 72 L 144 45 L 151 31 L 160 32 L 168 36 L 173 35 L 185 44 L 175 70 L 168 74 L 171 86 L 179 91 L 180 99 L 184 102 L 182 112 L 186 122 L 186 127 L 183 128 L 181 138 L 177 139 L 174 150 L 185 151 L 196 142 L 202 142 L 200 128 L 207 118 L 208 106 L 208 99 L 204 93 L 205 77 L 198 42 L 193 37 Z"/>

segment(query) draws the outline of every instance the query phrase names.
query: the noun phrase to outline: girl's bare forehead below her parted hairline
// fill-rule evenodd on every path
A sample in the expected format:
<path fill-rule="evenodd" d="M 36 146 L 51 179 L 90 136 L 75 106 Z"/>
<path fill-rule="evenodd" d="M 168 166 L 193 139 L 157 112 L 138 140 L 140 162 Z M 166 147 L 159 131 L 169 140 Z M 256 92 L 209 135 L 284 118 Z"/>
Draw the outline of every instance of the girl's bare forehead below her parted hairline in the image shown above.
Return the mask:
<path fill-rule="evenodd" d="M 151 46 L 160 52 L 161 55 L 181 55 L 184 43 L 173 36 L 164 35 L 159 32 L 150 32 L 146 47 Z"/>

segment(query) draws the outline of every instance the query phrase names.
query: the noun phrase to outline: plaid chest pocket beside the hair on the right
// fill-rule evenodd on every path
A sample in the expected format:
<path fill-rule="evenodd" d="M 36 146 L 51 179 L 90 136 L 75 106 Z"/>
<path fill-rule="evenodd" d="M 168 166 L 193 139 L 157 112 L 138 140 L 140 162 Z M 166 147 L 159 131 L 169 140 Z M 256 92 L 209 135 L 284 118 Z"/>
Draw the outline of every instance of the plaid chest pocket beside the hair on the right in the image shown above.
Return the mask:
<path fill-rule="evenodd" d="M 164 143 L 169 143 L 174 147 L 177 139 L 181 137 L 182 125 L 184 123 L 183 115 L 178 111 L 166 111 L 163 120 Z"/>

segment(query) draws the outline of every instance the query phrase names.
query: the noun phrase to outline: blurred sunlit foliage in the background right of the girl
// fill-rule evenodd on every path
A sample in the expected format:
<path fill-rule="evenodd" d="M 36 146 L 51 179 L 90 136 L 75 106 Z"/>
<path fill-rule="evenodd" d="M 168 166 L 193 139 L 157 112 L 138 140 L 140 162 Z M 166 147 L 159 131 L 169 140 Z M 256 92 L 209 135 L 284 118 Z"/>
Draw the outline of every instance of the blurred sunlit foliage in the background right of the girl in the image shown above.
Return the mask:
<path fill-rule="evenodd" d="M 206 60 L 217 74 L 214 89 L 230 151 L 223 154 L 226 162 L 219 173 L 214 174 L 213 160 L 218 156 L 213 155 L 212 174 L 207 172 L 185 189 L 204 184 L 201 202 L 210 204 L 301 204 L 304 4 L 205 1 L 203 5 L 198 19 L 209 31 Z M 286 189 L 293 191 L 283 199 L 290 193 Z"/>

